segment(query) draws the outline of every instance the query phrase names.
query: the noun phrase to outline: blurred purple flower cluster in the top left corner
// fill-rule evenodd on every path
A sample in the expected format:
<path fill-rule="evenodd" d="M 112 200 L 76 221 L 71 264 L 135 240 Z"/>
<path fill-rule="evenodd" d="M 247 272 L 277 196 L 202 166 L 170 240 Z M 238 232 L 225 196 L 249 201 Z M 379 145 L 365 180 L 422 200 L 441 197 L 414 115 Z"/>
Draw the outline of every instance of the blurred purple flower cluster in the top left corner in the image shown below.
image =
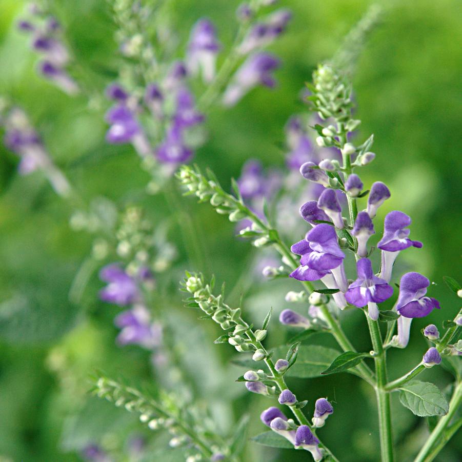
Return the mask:
<path fill-rule="evenodd" d="M 31 35 L 32 49 L 43 56 L 37 66 L 39 73 L 64 92 L 78 93 L 78 85 L 69 74 L 70 53 L 63 41 L 61 25 L 36 5 L 31 5 L 29 10 L 31 18 L 21 19 L 17 27 Z"/>

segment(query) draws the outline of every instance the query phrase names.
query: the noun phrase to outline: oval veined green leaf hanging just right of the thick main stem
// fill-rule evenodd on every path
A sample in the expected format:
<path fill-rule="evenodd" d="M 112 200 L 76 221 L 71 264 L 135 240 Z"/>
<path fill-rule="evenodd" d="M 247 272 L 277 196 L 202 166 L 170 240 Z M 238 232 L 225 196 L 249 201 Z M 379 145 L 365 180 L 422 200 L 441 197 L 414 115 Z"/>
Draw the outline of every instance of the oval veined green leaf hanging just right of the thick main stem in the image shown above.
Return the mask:
<path fill-rule="evenodd" d="M 449 405 L 436 385 L 419 380 L 411 380 L 399 389 L 401 404 L 419 417 L 445 415 Z"/>

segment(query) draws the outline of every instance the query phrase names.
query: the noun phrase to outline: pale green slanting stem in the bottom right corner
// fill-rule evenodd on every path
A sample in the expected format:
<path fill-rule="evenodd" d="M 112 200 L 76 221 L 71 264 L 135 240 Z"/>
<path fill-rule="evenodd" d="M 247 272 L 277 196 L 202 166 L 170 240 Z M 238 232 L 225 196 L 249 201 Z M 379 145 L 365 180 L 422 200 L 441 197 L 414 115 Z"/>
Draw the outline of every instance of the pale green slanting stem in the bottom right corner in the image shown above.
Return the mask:
<path fill-rule="evenodd" d="M 451 419 L 454 417 L 455 413 L 458 411 L 461 404 L 462 381 L 458 383 L 456 389 L 454 390 L 454 394 L 452 395 L 452 398 L 449 401 L 448 413 L 439 419 L 438 424 L 431 432 L 425 445 L 422 447 L 422 449 L 420 449 L 420 452 L 417 454 L 417 457 L 414 459 L 414 462 L 430 462 L 437 455 L 437 453 L 444 447 L 446 441 L 455 433 L 455 431 L 460 427 L 460 425 L 462 425 L 462 421 L 460 421 L 459 419 L 456 425 L 451 427 L 450 435 L 444 434 L 446 428 L 451 422 Z M 440 438 L 443 438 L 443 440 L 440 441 L 438 446 L 432 451 L 433 446 L 438 443 L 438 440 Z M 436 449 L 438 449 L 438 451 L 436 451 Z"/>

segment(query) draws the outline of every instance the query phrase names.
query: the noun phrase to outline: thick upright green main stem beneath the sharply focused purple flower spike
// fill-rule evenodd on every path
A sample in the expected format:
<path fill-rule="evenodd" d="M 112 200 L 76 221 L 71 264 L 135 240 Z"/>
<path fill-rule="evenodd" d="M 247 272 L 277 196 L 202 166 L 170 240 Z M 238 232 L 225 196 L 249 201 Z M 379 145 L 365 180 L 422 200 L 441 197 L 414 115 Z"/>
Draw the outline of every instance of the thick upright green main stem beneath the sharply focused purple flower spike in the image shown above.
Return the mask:
<path fill-rule="evenodd" d="M 367 315 L 366 315 L 367 316 Z M 391 429 L 390 394 L 385 390 L 387 384 L 387 359 L 386 351 L 382 344 L 382 338 L 378 322 L 367 316 L 367 324 L 371 334 L 372 346 L 375 351 L 375 371 L 377 375 L 375 394 L 377 397 L 380 453 L 382 462 L 393 462 L 393 435 Z"/>

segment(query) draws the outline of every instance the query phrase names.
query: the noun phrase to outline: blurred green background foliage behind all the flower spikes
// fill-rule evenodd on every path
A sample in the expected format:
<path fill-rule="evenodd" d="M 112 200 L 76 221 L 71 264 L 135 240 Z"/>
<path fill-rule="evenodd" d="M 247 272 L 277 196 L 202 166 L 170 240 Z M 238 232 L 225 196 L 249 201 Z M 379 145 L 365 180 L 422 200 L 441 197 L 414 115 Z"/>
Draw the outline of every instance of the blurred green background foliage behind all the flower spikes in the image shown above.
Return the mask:
<path fill-rule="evenodd" d="M 298 98 L 300 89 L 316 63 L 332 55 L 369 4 L 361 0 L 279 3 L 293 10 L 293 20 L 288 32 L 271 46 L 283 59 L 277 87 L 256 89 L 231 110 L 212 109 L 208 141 L 196 153 L 199 166 L 211 167 L 226 187 L 249 158 L 258 158 L 265 166 L 283 166 L 284 124 L 291 114 L 305 110 Z M 38 77 L 36 56 L 28 39 L 15 28 L 25 3 L 1 0 L 0 4 L 0 94 L 28 112 L 55 162 L 86 200 L 102 195 L 120 205 L 140 203 L 153 222 L 170 217 L 169 238 L 179 256 L 174 267 L 160 276 L 164 292 L 153 309 L 167 313 L 177 325 L 176 348 L 189 367 L 191 388 L 212 405 L 217 426 L 229 429 L 242 413 L 250 412 L 250 436 L 264 431 L 258 414 L 268 401 L 244 393 L 242 384 L 234 383 L 242 368 L 229 365 L 232 348 L 213 345 L 220 335 L 218 328 L 197 321 L 196 313 L 182 307 L 177 282 L 186 268 L 214 272 L 220 282 L 226 280 L 230 303 L 238 303 L 240 293 L 244 294 L 245 313 L 256 322 L 261 322 L 269 305 L 277 314 L 287 308 L 284 295 L 297 290 L 296 284 L 250 279 L 247 267 L 255 250 L 235 239 L 233 224 L 211 207 L 181 199 L 176 186 L 172 187 L 173 207 L 163 195 L 146 196 L 149 177 L 139 168 L 132 148 L 105 143 L 108 104 L 102 100 L 90 108 L 84 96 L 71 98 Z M 117 67 L 115 25 L 108 4 L 56 0 L 51 5 L 89 82 L 103 91 Z M 394 209 L 412 217 L 412 237 L 423 241 L 424 248 L 401 254 L 400 271 L 426 274 L 435 283 L 431 296 L 442 307 L 429 318 L 415 320 L 405 351 L 390 353 L 390 375 L 397 377 L 425 350 L 419 330 L 430 320 L 440 325 L 459 308 L 442 276 L 460 279 L 461 274 L 462 6 L 457 0 L 384 5 L 387 14 L 361 54 L 354 78 L 357 116 L 363 120 L 359 136 L 363 139 L 374 133 L 377 153 L 375 162 L 361 170 L 361 178 L 366 185 L 383 180 L 390 187 L 392 197 L 380 209 L 382 218 Z M 237 2 L 228 0 L 172 2 L 180 43 L 186 42 L 197 18 L 208 16 L 226 49 L 235 31 L 236 6 Z M 123 451 L 127 435 L 146 430 L 131 414 L 89 397 L 88 376 L 102 368 L 108 374 L 150 380 L 149 355 L 137 347 L 115 345 L 113 317 L 119 310 L 98 301 L 96 293 L 102 284 L 96 274 L 82 303 L 69 302 L 69 288 L 90 252 L 91 237 L 69 228 L 72 210 L 54 195 L 40 173 L 19 176 L 17 158 L 3 146 L 0 158 L 0 459 L 80 460 L 79 451 L 94 440 Z M 190 217 L 187 232 L 177 226 L 185 214 Z M 200 252 L 193 251 L 194 236 Z M 267 340 L 271 345 L 285 339 L 285 329 L 277 324 L 274 316 Z M 349 312 L 344 324 L 356 348 L 368 351 L 369 335 L 359 310 Z M 325 335 L 312 341 L 335 346 Z M 449 381 L 441 368 L 424 375 L 440 388 Z M 310 400 L 308 412 L 318 396 L 334 401 L 335 414 L 320 434 L 340 460 L 377 460 L 372 390 L 349 374 L 313 379 L 308 385 L 300 379 L 291 382 L 297 395 Z M 408 460 L 425 439 L 425 425 L 396 401 L 393 404 L 398 458 Z M 460 433 L 438 460 L 460 460 L 462 441 L 457 436 Z M 165 435 L 151 437 L 146 460 L 183 459 L 177 450 L 167 449 Z M 254 444 L 246 450 L 249 461 L 302 456 Z"/>

